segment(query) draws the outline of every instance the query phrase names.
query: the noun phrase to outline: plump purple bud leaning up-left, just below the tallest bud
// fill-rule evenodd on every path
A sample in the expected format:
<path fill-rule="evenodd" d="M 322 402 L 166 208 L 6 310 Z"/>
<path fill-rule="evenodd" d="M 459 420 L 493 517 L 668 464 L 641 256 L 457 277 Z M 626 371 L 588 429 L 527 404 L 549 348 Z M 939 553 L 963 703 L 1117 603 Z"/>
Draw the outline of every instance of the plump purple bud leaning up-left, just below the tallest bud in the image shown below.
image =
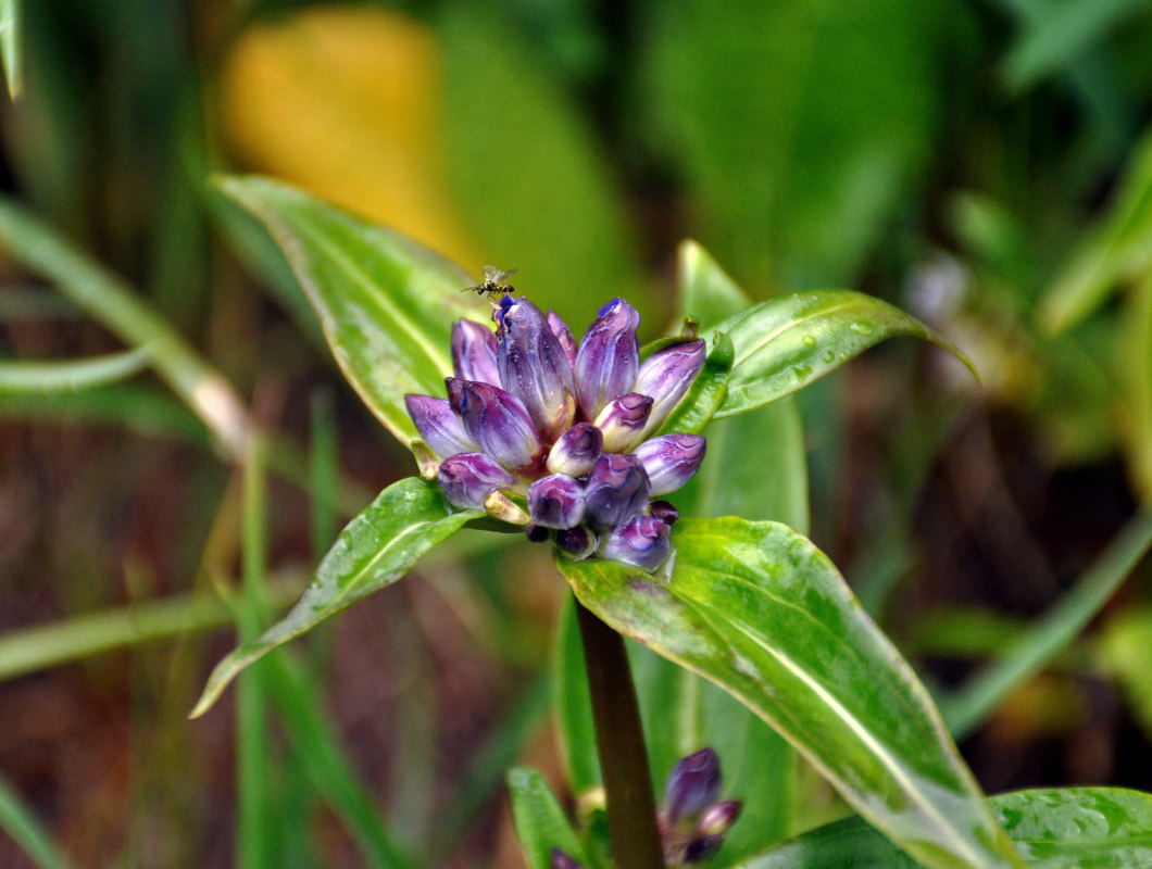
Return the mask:
<path fill-rule="evenodd" d="M 515 471 L 530 467 L 540 437 L 521 401 L 499 387 L 446 378 L 448 402 L 483 452 Z"/>

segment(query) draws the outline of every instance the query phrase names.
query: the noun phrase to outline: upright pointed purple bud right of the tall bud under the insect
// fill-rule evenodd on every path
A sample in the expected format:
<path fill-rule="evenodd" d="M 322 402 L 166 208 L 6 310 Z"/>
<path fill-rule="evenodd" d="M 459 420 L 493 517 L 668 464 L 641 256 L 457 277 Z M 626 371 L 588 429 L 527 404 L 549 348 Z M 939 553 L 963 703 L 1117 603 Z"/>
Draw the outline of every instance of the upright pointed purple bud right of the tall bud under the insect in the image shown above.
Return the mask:
<path fill-rule="evenodd" d="M 600 308 L 576 352 L 576 388 L 584 416 L 596 419 L 604 405 L 631 390 L 639 371 L 636 327 L 641 315 L 621 298 Z"/>

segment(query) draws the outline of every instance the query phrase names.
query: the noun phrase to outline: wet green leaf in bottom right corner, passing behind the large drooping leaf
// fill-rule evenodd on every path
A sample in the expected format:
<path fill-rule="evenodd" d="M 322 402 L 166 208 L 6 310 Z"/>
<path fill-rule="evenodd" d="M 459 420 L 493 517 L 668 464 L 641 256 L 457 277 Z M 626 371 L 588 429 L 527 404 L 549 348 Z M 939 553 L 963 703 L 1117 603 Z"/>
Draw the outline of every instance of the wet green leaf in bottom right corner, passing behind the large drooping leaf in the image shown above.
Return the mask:
<path fill-rule="evenodd" d="M 998 821 L 1031 869 L 1135 869 L 1152 864 L 1152 795 L 1068 787 L 993 796 Z M 918 869 L 861 818 L 827 824 L 742 869 Z"/>

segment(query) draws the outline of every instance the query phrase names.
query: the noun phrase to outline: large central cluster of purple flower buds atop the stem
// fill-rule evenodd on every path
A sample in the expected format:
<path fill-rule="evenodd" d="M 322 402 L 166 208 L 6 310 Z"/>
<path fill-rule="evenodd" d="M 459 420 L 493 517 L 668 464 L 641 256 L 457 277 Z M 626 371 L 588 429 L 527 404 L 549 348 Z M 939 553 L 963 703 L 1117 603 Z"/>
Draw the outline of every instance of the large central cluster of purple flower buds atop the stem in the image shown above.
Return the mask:
<path fill-rule="evenodd" d="M 453 329 L 447 399 L 404 396 L 439 459 L 429 478 L 460 508 L 486 508 L 498 491 L 525 497 L 529 540 L 552 540 L 571 558 L 655 570 L 679 513 L 652 498 L 691 479 L 705 442 L 653 435 L 704 364 L 704 342 L 641 364 L 639 314 L 621 298 L 578 344 L 555 313 L 523 297 L 503 296 L 492 319 L 494 334 L 468 320 Z"/>

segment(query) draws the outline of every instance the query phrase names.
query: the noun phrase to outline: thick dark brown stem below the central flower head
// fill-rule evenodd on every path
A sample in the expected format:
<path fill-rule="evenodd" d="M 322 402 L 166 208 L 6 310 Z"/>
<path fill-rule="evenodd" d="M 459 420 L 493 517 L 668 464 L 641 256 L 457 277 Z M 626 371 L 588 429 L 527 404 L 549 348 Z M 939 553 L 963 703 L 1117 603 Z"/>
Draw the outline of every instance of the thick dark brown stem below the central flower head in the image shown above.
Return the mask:
<path fill-rule="evenodd" d="M 652 773 L 623 638 L 576 602 L 592 692 L 596 749 L 617 869 L 665 869 Z"/>

